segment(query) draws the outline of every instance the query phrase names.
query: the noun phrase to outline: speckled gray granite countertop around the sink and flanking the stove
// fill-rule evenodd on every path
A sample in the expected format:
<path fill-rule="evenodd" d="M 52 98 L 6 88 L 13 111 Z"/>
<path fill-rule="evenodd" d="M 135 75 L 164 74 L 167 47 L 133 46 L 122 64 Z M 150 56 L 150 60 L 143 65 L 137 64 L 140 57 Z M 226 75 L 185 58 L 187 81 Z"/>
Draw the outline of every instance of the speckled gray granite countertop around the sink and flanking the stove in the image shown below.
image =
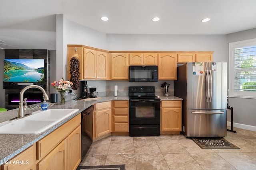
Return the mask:
<path fill-rule="evenodd" d="M 183 100 L 182 98 L 178 98 L 176 96 L 159 96 L 161 100 Z M 95 98 L 95 100 L 70 100 L 67 101 L 66 104 L 60 105 L 60 103 L 49 103 L 48 109 L 79 109 L 78 112 L 74 113 L 67 119 L 61 121 L 60 123 L 52 126 L 48 130 L 39 133 L 39 134 L 2 134 L 0 135 L 0 165 L 2 165 L 7 160 L 10 160 L 23 150 L 27 149 L 76 115 L 80 112 L 84 111 L 86 108 L 90 107 L 95 103 L 108 102 L 112 100 L 129 100 L 128 96 L 106 96 Z M 32 113 L 34 111 L 40 110 L 41 107 L 36 107 L 35 109 L 27 109 L 26 113 Z M 17 117 L 18 109 L 12 109 L 6 112 L 0 113 L 0 123 L 4 121 L 8 121 L 14 117 Z"/>

